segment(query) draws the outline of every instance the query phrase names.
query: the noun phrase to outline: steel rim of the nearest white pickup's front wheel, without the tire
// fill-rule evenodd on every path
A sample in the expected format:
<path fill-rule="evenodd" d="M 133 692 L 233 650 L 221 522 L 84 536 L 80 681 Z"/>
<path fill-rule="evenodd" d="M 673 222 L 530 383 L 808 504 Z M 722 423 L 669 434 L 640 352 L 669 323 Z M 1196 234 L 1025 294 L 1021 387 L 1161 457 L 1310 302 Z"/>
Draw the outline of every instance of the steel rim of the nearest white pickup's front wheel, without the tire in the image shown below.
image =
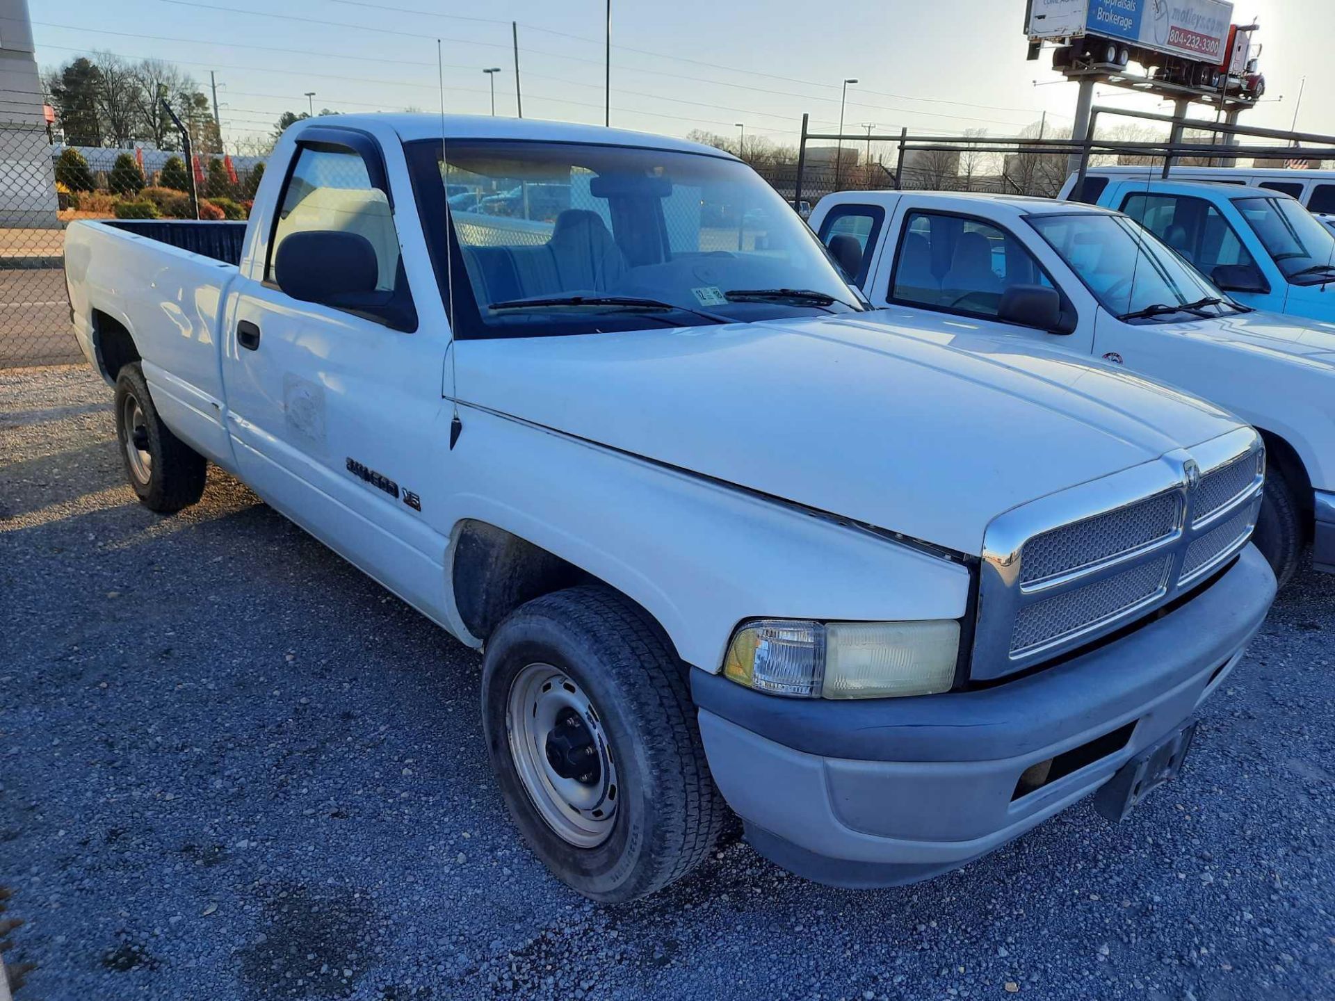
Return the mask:
<path fill-rule="evenodd" d="M 578 717 L 578 725 L 570 723 L 571 714 Z M 551 665 L 530 663 L 510 685 L 506 735 L 519 782 L 543 822 L 575 848 L 605 842 L 617 821 L 617 765 L 602 717 L 583 689 Z M 579 755 L 587 771 L 578 777 L 559 774 L 553 761 L 551 747 L 557 747 L 559 758 L 570 743 L 591 749 Z M 561 763 L 569 767 L 567 761 Z M 591 782 L 579 781 L 590 773 L 595 773 Z"/>

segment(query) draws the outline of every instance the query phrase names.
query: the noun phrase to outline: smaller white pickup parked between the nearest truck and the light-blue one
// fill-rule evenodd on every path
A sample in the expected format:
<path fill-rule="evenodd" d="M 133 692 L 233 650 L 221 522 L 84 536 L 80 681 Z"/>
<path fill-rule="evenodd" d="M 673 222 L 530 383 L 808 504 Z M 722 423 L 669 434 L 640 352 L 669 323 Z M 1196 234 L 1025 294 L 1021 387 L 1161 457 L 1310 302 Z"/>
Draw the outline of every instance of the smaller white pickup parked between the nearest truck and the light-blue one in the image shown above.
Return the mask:
<path fill-rule="evenodd" d="M 1244 203 L 1274 199 L 1280 211 L 1292 206 L 1306 215 L 1278 192 L 1175 187 Z M 1202 224 L 1215 247 L 1230 232 L 1219 218 Z M 1222 291 L 1131 218 L 1073 202 L 850 191 L 822 199 L 812 227 L 896 328 L 945 324 L 987 332 L 1013 351 L 1057 350 L 1240 414 L 1270 451 L 1258 547 L 1280 585 L 1308 546 L 1318 570 L 1335 571 L 1335 324 L 1254 310 L 1244 294 Z M 1330 243 L 1310 228 L 1304 239 Z M 1234 246 L 1243 246 L 1240 231 Z M 1236 252 L 1230 262 L 1214 271 L 1236 288 L 1250 266 Z M 1335 303 L 1335 287 L 1320 287 L 1302 291 Z"/>

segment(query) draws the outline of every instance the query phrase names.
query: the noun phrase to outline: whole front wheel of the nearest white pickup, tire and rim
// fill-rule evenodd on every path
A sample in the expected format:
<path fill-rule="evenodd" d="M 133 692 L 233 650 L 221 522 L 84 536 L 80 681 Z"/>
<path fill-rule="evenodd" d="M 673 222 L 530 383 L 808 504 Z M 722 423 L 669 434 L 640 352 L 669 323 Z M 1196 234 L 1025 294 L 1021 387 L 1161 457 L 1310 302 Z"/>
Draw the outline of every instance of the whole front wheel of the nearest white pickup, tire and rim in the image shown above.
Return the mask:
<path fill-rule="evenodd" d="M 487 641 L 482 719 L 519 833 L 585 897 L 654 893 L 717 842 L 728 807 L 680 663 L 617 593 L 573 587 L 511 613 Z"/>

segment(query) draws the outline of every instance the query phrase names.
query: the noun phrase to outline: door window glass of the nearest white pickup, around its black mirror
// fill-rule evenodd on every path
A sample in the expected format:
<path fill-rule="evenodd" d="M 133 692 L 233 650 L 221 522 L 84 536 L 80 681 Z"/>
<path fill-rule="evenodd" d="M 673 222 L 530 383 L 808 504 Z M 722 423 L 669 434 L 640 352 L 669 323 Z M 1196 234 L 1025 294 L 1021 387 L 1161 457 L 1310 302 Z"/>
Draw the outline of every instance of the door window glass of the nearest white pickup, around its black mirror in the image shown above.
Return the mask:
<path fill-rule="evenodd" d="M 274 280 L 278 248 L 292 234 L 335 230 L 364 236 L 378 263 L 376 290 L 392 292 L 403 280 L 399 238 L 384 192 L 372 187 L 366 163 L 351 149 L 303 147 L 283 192 L 264 270 Z"/>

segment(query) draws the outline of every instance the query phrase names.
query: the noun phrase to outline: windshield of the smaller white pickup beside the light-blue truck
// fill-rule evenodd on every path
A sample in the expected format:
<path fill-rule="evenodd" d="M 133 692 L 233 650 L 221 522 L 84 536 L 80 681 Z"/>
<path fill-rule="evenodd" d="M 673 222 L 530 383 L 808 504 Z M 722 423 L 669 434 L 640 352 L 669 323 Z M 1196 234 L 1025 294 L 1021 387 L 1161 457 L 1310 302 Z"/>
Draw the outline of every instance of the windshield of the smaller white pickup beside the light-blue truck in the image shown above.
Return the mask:
<path fill-rule="evenodd" d="M 1184 320 L 1239 308 L 1159 238 L 1125 216 L 1080 212 L 1032 215 L 1028 222 L 1113 316 Z"/>

